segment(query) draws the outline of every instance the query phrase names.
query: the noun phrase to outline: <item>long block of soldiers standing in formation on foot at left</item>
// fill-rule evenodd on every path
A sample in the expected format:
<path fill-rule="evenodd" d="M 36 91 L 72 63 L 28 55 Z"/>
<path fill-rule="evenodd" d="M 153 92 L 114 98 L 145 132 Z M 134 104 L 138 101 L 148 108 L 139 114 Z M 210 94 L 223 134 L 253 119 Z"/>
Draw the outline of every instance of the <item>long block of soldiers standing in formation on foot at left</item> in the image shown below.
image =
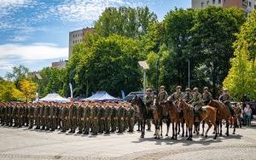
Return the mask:
<path fill-rule="evenodd" d="M 70 134 L 133 132 L 136 110 L 125 102 L 0 102 L 0 123 Z"/>

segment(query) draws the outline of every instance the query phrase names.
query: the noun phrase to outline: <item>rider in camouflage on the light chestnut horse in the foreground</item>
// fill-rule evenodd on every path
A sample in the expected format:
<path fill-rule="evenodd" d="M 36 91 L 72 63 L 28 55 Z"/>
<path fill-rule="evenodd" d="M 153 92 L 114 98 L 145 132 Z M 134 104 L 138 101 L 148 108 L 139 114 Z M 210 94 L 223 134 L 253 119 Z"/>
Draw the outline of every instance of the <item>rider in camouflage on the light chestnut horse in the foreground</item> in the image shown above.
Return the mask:
<path fill-rule="evenodd" d="M 201 106 L 202 106 L 202 100 L 201 100 L 201 94 L 199 93 L 197 88 L 193 89 L 193 99 L 189 101 L 189 104 L 191 104 L 195 111 L 195 122 L 198 122 L 201 115 Z"/>

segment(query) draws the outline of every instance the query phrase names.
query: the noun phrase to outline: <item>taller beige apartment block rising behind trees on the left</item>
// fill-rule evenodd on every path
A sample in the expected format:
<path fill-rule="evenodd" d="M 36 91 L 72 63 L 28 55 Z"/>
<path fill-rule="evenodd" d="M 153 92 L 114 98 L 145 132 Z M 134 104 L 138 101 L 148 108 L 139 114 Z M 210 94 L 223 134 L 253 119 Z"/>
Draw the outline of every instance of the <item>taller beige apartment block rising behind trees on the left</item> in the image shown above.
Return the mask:
<path fill-rule="evenodd" d="M 73 46 L 76 43 L 81 43 L 84 40 L 84 38 L 86 37 L 86 35 L 93 31 L 94 31 L 93 28 L 87 27 L 87 28 L 83 28 L 82 30 L 69 32 L 68 59 L 72 55 Z"/>

